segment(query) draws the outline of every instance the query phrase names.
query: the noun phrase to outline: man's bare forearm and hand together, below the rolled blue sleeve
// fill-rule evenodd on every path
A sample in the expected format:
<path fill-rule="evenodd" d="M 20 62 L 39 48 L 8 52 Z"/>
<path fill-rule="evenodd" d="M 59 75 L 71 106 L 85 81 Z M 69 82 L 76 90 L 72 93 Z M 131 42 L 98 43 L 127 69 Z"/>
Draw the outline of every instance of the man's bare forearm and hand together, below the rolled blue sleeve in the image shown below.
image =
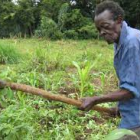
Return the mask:
<path fill-rule="evenodd" d="M 105 102 L 126 101 L 133 97 L 134 95 L 130 91 L 125 90 L 125 89 L 120 89 L 116 92 L 102 95 L 102 96 L 93 96 L 93 97 L 83 98 L 80 109 L 88 111 L 96 104 L 105 103 Z"/>

